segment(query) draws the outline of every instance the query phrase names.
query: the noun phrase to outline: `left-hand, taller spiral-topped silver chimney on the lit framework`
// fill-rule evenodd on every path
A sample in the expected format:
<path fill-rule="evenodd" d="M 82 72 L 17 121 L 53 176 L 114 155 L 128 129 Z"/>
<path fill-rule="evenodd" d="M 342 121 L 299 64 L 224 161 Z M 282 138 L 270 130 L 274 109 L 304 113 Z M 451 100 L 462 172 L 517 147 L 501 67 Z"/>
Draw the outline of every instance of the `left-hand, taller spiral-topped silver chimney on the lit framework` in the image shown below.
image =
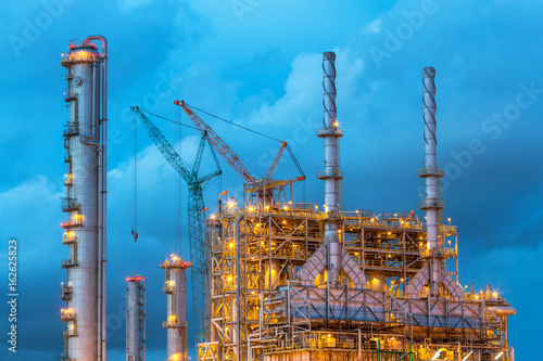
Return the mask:
<path fill-rule="evenodd" d="M 341 265 L 341 245 L 338 237 L 338 211 L 340 182 L 343 172 L 339 169 L 339 139 L 343 132 L 336 119 L 336 54 L 324 53 L 324 127 L 317 130 L 317 136 L 325 140 L 325 169 L 318 172 L 318 179 L 325 181 L 325 243 L 327 246 L 328 278 L 332 283 L 339 282 Z"/>

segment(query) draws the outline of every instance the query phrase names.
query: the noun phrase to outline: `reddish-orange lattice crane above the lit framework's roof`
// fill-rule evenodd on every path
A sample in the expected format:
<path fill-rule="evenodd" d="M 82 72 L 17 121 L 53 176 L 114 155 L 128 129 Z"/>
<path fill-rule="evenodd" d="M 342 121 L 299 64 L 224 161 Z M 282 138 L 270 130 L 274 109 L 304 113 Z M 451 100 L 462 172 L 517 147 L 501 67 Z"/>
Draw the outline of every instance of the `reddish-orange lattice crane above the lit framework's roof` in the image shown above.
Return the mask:
<path fill-rule="evenodd" d="M 241 159 L 236 155 L 236 153 L 218 137 L 215 131 L 205 124 L 192 109 L 185 103 L 185 101 L 174 101 L 175 105 L 179 105 L 182 107 L 185 113 L 189 116 L 189 118 L 192 120 L 194 126 L 200 129 L 201 131 L 207 131 L 209 134 L 209 141 L 210 144 L 217 151 L 218 154 L 245 180 L 248 183 L 252 183 L 252 185 L 247 190 L 248 193 L 253 193 L 257 192 L 260 195 L 264 198 L 272 198 L 272 191 L 275 188 L 282 188 L 288 184 L 295 183 L 298 181 L 304 180 L 305 176 L 303 175 L 303 171 L 295 160 L 292 152 L 288 147 L 287 142 L 281 141 L 281 146 L 279 147 L 279 152 L 277 152 L 277 155 L 272 163 L 272 166 L 269 167 L 266 176 L 264 179 L 257 180 L 250 171 L 247 169 L 247 167 L 241 163 Z M 247 128 L 245 128 L 247 129 Z M 268 137 L 270 138 L 270 137 Z M 277 140 L 277 139 L 276 139 Z M 279 159 L 281 158 L 282 153 L 285 152 L 285 149 L 289 149 L 289 152 L 292 156 L 292 159 L 294 160 L 294 164 L 296 165 L 298 169 L 302 173 L 301 177 L 293 178 L 291 180 L 283 180 L 283 181 L 276 181 L 276 182 L 269 182 L 270 178 L 277 167 L 277 164 L 279 163 Z"/>

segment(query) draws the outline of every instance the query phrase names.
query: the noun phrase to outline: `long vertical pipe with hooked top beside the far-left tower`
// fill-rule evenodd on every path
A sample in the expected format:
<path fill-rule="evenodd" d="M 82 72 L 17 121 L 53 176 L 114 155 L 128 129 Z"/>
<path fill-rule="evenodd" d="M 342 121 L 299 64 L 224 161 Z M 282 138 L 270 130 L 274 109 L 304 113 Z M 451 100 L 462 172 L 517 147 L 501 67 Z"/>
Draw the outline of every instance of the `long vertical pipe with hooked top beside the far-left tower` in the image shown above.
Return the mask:
<path fill-rule="evenodd" d="M 101 209 L 101 258 L 100 258 L 100 285 L 101 285 L 101 304 L 100 304 L 100 320 L 99 320 L 99 360 L 108 360 L 106 353 L 106 262 L 108 262 L 108 40 L 101 35 L 88 36 L 84 43 L 88 44 L 91 40 L 102 42 L 102 191 L 100 196 L 102 199 Z"/>

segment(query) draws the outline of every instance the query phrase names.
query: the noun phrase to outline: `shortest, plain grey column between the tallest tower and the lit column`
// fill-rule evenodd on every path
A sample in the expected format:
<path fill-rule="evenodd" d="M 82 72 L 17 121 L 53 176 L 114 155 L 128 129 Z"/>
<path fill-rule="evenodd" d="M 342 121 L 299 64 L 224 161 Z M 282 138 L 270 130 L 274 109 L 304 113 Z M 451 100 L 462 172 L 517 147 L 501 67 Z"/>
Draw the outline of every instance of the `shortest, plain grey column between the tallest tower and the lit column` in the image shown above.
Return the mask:
<path fill-rule="evenodd" d="M 126 281 L 126 361 L 146 361 L 146 279 Z"/>

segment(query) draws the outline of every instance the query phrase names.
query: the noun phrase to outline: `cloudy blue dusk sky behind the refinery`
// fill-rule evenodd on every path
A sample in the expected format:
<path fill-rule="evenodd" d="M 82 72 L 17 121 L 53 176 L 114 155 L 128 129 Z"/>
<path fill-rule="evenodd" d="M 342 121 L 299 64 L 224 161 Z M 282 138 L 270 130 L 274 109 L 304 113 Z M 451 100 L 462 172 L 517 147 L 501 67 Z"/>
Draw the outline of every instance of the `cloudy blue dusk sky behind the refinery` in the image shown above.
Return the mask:
<path fill-rule="evenodd" d="M 3 3 L 0 66 L 0 249 L 20 243 L 20 352 L 8 360 L 58 359 L 63 195 L 62 127 L 67 120 L 60 54 L 70 39 L 110 43 L 110 360 L 123 360 L 125 278 L 148 279 L 149 360 L 165 358 L 165 296 L 157 266 L 176 250 L 172 196 L 177 176 L 141 128 L 139 233 L 131 227 L 131 105 L 175 117 L 174 99 L 287 140 L 308 176 L 307 199 L 323 203 L 314 175 L 321 108 L 321 53 L 337 52 L 338 117 L 344 129 L 345 209 L 416 209 L 424 162 L 422 67 L 437 68 L 439 159 L 445 218 L 458 225 L 460 282 L 493 285 L 518 310 L 510 343 L 527 359 L 543 296 L 543 38 L 535 1 L 227 0 Z M 258 172 L 278 144 L 202 115 Z M 176 128 L 153 119 L 172 142 Z M 185 117 L 184 121 L 188 121 Z M 199 134 L 181 130 L 192 163 Z M 213 170 L 206 153 L 202 171 Z M 223 190 L 240 178 L 223 165 Z M 277 176 L 294 177 L 292 163 Z M 182 203 L 187 202 L 182 188 Z M 216 204 L 217 183 L 206 203 Z M 185 216 L 184 232 L 186 232 Z M 186 233 L 185 233 L 186 234 Z M 186 235 L 181 243 L 187 249 Z M 188 253 L 181 253 L 188 256 Z M 2 286 L 4 289 L 4 286 Z M 7 310 L 5 305 L 2 313 Z M 2 317 L 2 330 L 7 322 Z M 194 356 L 194 353 L 192 353 Z"/>

